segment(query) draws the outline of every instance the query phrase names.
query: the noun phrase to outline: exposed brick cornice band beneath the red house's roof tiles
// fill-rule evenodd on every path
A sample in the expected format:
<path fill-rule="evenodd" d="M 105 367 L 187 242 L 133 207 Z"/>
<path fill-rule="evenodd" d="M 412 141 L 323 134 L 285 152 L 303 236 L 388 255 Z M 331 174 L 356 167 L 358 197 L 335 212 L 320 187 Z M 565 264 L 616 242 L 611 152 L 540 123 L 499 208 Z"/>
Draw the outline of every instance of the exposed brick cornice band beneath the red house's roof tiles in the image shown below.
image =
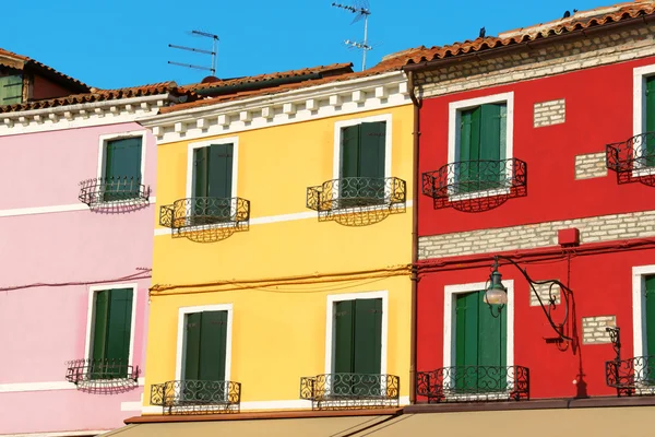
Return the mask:
<path fill-rule="evenodd" d="M 524 51 L 462 60 L 455 66 L 417 72 L 418 94 L 439 96 L 644 58 L 655 55 L 654 40 L 655 25 L 640 23 L 563 44 L 553 42 Z"/>

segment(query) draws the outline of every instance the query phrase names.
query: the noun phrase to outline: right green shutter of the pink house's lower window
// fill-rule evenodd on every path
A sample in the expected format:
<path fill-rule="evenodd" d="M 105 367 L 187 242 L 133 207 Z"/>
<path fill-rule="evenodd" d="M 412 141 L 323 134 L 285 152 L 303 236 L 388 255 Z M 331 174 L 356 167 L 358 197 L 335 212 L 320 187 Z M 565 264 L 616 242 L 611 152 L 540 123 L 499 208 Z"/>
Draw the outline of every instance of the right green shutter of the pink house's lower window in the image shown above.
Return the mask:
<path fill-rule="evenodd" d="M 132 288 L 111 290 L 105 357 L 128 364 L 132 327 Z"/>

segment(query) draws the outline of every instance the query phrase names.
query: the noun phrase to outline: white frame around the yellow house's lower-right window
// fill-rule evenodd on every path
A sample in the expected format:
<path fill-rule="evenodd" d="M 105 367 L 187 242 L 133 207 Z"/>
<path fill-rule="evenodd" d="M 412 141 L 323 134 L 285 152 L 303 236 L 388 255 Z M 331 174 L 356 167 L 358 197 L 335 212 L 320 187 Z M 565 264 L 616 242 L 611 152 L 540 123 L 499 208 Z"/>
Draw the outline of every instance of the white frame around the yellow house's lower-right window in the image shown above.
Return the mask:
<path fill-rule="evenodd" d="M 382 299 L 382 351 L 380 353 L 380 374 L 386 374 L 386 350 L 389 344 L 389 291 L 331 294 L 325 306 L 325 374 L 332 374 L 334 366 L 334 304 L 343 300 Z M 303 401 L 306 402 L 306 401 Z M 307 403 L 305 403 L 307 405 Z"/>

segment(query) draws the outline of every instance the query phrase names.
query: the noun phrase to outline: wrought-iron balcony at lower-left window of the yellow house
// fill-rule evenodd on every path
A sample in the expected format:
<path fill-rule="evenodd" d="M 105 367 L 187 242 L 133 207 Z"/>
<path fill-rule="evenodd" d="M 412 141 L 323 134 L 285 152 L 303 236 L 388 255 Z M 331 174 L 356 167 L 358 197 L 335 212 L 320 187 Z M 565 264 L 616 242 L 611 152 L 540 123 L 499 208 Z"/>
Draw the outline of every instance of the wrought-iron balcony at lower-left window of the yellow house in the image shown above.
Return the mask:
<path fill-rule="evenodd" d="M 151 387 L 151 404 L 164 414 L 238 413 L 241 383 L 233 381 L 182 380 Z"/>

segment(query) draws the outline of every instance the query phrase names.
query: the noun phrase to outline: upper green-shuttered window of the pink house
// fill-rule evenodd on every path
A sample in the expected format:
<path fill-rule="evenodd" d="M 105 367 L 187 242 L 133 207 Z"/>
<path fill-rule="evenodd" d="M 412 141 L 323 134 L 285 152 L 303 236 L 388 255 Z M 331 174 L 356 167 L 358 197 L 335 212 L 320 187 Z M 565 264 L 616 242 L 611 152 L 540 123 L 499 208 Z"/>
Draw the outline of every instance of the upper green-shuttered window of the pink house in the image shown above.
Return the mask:
<path fill-rule="evenodd" d="M 144 132 L 100 137 L 100 177 L 105 202 L 138 198 L 143 180 Z"/>

